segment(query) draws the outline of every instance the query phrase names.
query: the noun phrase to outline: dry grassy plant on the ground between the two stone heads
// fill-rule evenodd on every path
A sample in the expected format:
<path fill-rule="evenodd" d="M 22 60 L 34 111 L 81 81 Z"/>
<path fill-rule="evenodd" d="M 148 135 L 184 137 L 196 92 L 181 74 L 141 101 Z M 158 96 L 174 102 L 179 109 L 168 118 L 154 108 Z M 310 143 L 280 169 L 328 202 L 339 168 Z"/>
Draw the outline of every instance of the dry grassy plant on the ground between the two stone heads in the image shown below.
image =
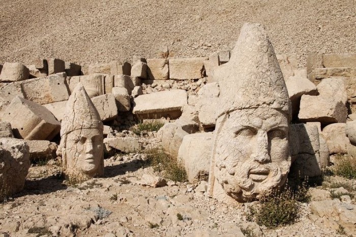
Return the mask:
<path fill-rule="evenodd" d="M 164 153 L 162 147 L 146 150 L 145 153 L 147 154 L 146 166 L 154 166 L 154 170 L 157 172 L 163 171 L 163 176 L 172 181 L 184 182 L 187 180 L 184 166 Z"/>

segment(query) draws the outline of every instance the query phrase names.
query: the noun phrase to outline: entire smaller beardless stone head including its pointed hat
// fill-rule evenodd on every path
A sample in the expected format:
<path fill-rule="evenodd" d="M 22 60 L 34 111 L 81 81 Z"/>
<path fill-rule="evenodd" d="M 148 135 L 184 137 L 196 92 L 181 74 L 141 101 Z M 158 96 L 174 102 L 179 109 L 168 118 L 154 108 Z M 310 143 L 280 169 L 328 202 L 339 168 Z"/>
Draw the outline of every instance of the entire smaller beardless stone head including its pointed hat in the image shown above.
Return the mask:
<path fill-rule="evenodd" d="M 85 181 L 104 174 L 103 123 L 81 83 L 67 102 L 60 147 L 63 171 L 70 178 Z"/>

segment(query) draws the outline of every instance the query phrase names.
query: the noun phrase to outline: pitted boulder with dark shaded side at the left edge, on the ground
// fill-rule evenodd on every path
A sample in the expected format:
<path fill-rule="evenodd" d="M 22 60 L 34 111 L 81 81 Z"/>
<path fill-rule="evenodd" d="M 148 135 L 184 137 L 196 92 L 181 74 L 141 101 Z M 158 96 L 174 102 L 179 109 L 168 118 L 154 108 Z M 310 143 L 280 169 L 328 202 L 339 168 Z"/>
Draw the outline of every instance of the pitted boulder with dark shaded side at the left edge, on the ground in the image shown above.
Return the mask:
<path fill-rule="evenodd" d="M 21 191 L 30 165 L 24 140 L 0 138 L 0 192 L 12 195 Z"/>

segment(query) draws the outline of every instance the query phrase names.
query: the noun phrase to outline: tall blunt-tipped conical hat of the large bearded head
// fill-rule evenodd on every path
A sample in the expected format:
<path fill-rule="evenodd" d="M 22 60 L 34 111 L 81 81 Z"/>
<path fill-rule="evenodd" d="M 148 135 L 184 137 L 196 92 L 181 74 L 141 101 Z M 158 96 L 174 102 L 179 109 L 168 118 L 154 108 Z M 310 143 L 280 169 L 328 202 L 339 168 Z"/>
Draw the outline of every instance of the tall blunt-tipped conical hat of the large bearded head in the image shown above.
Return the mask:
<path fill-rule="evenodd" d="M 281 69 L 265 28 L 245 23 L 230 61 L 216 69 L 220 86 L 219 116 L 238 109 L 273 108 L 290 114 Z"/>

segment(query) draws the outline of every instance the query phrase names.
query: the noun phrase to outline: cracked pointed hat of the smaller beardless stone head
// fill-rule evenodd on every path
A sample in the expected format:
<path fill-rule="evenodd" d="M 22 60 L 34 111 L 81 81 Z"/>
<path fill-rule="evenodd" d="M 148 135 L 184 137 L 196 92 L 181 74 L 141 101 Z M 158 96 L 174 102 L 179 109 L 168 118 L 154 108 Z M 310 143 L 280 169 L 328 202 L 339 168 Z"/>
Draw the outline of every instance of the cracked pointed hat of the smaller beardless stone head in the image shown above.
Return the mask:
<path fill-rule="evenodd" d="M 84 86 L 79 82 L 68 99 L 62 120 L 61 136 L 87 128 L 103 130 L 103 123 Z"/>

